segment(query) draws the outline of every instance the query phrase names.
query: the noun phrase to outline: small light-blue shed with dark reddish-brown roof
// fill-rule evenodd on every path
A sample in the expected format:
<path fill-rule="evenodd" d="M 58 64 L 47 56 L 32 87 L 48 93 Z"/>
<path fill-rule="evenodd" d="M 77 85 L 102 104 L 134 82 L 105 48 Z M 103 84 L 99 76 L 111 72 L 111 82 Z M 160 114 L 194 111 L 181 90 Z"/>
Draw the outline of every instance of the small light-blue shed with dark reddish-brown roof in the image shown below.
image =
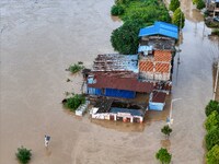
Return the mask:
<path fill-rule="evenodd" d="M 166 93 L 153 91 L 149 98 L 150 110 L 163 110 Z"/>

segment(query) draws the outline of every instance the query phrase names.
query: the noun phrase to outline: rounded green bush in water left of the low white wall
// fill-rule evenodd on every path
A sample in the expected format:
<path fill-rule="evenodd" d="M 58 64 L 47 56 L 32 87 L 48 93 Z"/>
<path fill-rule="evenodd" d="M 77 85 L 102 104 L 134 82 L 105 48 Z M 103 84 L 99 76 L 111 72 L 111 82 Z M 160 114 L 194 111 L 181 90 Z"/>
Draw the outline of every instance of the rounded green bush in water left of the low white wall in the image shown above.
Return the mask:
<path fill-rule="evenodd" d="M 64 106 L 71 112 L 74 112 L 81 104 L 85 103 L 85 97 L 81 94 L 76 94 L 64 101 Z"/>

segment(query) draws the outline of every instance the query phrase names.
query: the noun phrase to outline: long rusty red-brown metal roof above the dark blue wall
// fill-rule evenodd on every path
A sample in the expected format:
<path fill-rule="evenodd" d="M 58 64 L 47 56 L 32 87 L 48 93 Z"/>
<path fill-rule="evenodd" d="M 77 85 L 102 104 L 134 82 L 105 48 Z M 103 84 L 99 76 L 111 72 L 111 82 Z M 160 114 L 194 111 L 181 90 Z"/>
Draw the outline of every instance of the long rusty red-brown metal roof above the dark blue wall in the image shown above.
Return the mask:
<path fill-rule="evenodd" d="M 136 77 L 120 78 L 99 73 L 97 75 L 94 75 L 94 82 L 95 83 L 88 84 L 88 86 L 96 89 L 117 89 L 141 93 L 150 93 L 153 90 L 153 83 L 139 82 Z"/>

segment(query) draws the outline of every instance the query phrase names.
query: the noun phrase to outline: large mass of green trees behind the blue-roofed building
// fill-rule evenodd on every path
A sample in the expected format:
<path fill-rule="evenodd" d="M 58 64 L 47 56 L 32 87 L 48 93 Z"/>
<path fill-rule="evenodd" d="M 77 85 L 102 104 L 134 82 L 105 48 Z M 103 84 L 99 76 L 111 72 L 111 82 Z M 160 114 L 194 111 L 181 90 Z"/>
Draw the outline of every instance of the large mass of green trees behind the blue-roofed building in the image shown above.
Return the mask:
<path fill-rule="evenodd" d="M 138 33 L 141 27 L 152 25 L 154 21 L 171 22 L 169 12 L 161 0 L 116 0 L 115 7 L 124 10 L 124 13 L 117 14 L 117 8 L 114 12 L 119 15 L 124 24 L 113 31 L 111 36 L 112 46 L 119 54 L 137 52 Z"/>

